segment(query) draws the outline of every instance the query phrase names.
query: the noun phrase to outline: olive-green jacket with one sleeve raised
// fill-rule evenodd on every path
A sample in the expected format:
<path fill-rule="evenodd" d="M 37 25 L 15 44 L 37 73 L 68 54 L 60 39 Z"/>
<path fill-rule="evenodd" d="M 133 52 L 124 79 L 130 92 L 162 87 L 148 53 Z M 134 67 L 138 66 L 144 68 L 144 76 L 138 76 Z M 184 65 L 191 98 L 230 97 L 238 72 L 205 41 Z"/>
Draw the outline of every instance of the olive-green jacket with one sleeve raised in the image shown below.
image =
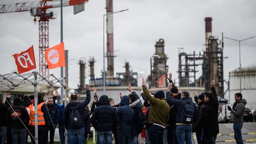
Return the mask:
<path fill-rule="evenodd" d="M 144 94 L 146 95 L 146 98 L 151 103 L 148 123 L 156 123 L 160 124 L 161 126 L 167 126 L 167 122 L 169 119 L 169 105 L 167 104 L 167 101 L 165 101 L 164 95 L 161 95 L 161 99 L 151 97 L 145 85 L 142 86 L 142 89 Z"/>

